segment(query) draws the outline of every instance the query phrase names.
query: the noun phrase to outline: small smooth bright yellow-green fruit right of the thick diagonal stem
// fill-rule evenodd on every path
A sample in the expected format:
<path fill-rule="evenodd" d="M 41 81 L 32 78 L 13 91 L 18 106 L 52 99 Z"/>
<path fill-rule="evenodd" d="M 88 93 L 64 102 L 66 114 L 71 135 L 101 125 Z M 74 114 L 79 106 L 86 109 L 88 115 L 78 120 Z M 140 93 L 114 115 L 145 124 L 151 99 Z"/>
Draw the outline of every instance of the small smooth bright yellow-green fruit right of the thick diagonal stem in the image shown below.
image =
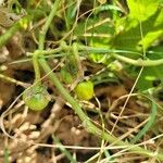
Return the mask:
<path fill-rule="evenodd" d="M 80 100 L 90 100 L 93 97 L 93 84 L 90 80 L 79 83 L 75 88 L 75 93 Z"/>

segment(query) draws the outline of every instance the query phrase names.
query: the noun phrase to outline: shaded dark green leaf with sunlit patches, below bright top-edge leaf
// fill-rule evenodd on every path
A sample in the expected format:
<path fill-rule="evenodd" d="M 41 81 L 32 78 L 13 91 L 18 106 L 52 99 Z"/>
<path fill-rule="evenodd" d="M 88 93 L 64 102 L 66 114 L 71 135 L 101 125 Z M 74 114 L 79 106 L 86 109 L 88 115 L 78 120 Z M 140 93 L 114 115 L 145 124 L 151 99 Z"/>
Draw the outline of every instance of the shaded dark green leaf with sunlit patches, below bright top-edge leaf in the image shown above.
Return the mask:
<path fill-rule="evenodd" d="M 163 36 L 163 11 L 159 9 L 154 15 L 141 23 L 141 27 L 139 22 L 129 17 L 117 21 L 117 25 L 118 28 L 123 27 L 123 30 L 115 34 L 111 42 L 112 47 L 142 51 L 141 47 L 148 49 L 158 38 Z"/>

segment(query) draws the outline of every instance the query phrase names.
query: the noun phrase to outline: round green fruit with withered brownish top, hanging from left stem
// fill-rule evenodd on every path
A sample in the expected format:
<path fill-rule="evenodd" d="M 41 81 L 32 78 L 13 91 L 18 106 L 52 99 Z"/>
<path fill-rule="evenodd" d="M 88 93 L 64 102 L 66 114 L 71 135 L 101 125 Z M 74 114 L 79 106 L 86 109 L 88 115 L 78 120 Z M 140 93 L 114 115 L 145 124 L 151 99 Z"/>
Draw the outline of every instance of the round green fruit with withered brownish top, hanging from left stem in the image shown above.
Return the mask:
<path fill-rule="evenodd" d="M 36 85 L 24 91 L 23 100 L 30 110 L 41 111 L 48 105 L 50 96 L 45 86 Z"/>

